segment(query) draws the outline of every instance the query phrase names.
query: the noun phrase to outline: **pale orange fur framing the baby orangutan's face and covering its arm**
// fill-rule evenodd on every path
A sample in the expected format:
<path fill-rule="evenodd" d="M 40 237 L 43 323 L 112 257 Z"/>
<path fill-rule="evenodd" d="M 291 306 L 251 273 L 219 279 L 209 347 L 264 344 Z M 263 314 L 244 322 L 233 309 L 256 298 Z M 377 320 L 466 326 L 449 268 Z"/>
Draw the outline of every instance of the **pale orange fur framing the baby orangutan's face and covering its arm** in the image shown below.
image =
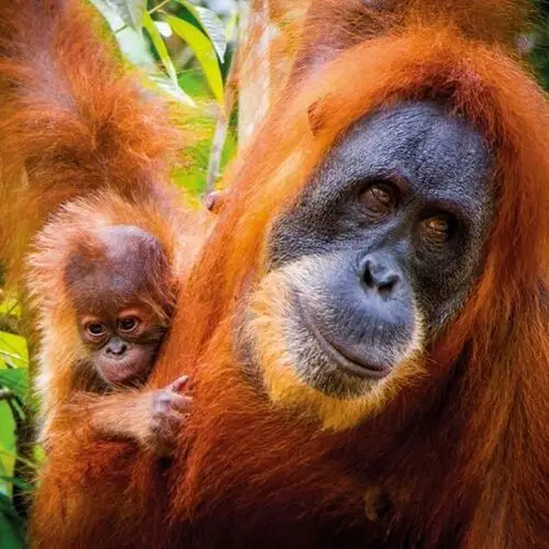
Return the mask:
<path fill-rule="evenodd" d="M 176 204 L 175 204 L 176 205 Z M 191 229 L 192 222 L 192 229 Z M 79 428 L 85 419 L 75 419 L 77 402 L 81 392 L 89 392 L 86 412 L 96 425 L 96 430 L 114 435 L 133 435 L 139 442 L 147 442 L 148 421 L 144 410 L 150 404 L 150 392 L 128 392 L 127 394 L 101 395 L 93 390 L 92 371 L 79 366 L 87 363 L 89 350 L 86 348 L 78 329 L 72 299 L 68 295 L 65 281 L 65 266 L 79 243 L 93 244 L 96 234 L 102 228 L 116 225 L 133 225 L 155 235 L 168 256 L 171 273 L 149 272 L 156 277 L 156 287 L 163 303 L 170 309 L 176 305 L 178 280 L 186 276 L 198 253 L 199 244 L 208 231 L 208 220 L 186 212 L 182 208 L 169 211 L 158 208 L 156 200 L 143 201 L 137 210 L 112 191 L 69 202 L 63 205 L 51 219 L 34 242 L 35 250 L 29 258 L 26 273 L 31 304 L 41 334 L 41 354 L 35 385 L 42 406 L 42 440 L 51 447 L 56 434 L 66 424 Z M 146 266 L 153 269 L 154 266 Z M 165 314 L 149 296 L 158 315 Z M 170 318 L 165 318 L 169 325 Z M 80 400 L 80 401 L 79 401 Z M 96 406 L 92 403 L 97 403 Z M 130 406 L 128 410 L 124 410 Z M 96 410 L 97 408 L 97 410 Z M 152 405 L 148 406 L 149 413 Z M 137 410 L 137 412 L 136 412 Z M 134 421 L 132 414 L 135 412 Z M 83 417 L 87 416 L 83 414 Z M 68 416 L 65 419 L 58 416 Z M 111 415 L 112 418 L 107 416 Z M 139 424 L 139 418 L 143 424 Z"/>

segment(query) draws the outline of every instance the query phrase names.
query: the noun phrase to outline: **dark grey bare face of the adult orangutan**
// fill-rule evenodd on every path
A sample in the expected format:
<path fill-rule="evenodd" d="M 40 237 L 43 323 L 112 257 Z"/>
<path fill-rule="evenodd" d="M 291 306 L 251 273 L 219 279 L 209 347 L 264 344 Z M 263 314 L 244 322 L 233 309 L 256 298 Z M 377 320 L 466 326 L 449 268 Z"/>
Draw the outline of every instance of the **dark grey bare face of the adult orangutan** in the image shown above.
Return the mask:
<path fill-rule="evenodd" d="M 299 376 L 360 394 L 424 348 L 474 284 L 493 202 L 490 150 L 442 108 L 400 104 L 349 128 L 269 238 Z"/>

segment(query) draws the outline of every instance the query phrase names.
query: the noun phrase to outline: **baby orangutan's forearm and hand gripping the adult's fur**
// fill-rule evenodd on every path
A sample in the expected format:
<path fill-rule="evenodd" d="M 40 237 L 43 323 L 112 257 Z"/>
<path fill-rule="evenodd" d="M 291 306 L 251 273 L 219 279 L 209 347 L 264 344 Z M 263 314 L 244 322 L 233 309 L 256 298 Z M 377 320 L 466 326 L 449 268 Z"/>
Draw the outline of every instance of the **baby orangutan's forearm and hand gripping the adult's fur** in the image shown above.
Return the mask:
<path fill-rule="evenodd" d="M 165 389 L 75 395 L 68 408 L 85 412 L 100 436 L 134 440 L 159 456 L 169 457 L 190 412 L 192 397 L 180 394 L 183 376 Z"/>

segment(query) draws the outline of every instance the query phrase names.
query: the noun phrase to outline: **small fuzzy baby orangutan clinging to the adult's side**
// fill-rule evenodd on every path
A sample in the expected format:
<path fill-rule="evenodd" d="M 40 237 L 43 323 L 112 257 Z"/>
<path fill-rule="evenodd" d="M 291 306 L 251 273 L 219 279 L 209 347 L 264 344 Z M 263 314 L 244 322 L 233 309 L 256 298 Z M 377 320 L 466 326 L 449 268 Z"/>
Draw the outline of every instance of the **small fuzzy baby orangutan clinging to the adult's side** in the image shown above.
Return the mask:
<path fill-rule="evenodd" d="M 86 224 L 74 227 L 61 216 L 46 226 L 31 257 L 42 330 L 43 442 L 47 449 L 59 435 L 91 427 L 169 456 L 192 402 L 179 394 L 187 377 L 160 390 L 142 385 L 175 307 L 172 242 L 130 224 Z M 52 237 L 63 240 L 57 250 Z"/>

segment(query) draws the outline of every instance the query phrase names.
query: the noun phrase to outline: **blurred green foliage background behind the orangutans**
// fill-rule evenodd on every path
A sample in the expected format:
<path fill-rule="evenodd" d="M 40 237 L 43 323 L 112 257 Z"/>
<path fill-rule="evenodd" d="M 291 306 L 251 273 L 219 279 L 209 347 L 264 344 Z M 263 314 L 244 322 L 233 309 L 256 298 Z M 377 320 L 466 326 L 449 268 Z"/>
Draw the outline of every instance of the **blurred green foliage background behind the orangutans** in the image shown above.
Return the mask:
<path fill-rule="evenodd" d="M 236 149 L 236 109 L 227 97 L 235 52 L 235 0 L 92 0 L 128 65 L 142 69 L 190 112 L 198 142 L 186 150 L 190 163 L 175 172 L 177 184 L 200 194 L 214 183 Z M 537 4 L 536 27 L 520 44 L 539 82 L 549 89 L 549 0 Z M 194 107 L 190 107 L 190 105 Z M 186 115 L 188 116 L 188 115 Z M 219 155 L 212 158 L 217 128 Z M 217 158 L 215 158 L 217 156 Z M 210 172 L 210 176 L 209 176 Z M 209 182 L 208 182 L 209 181 Z M 32 445 L 32 399 L 27 394 L 27 346 L 16 302 L 1 293 L 0 272 L 0 549 L 25 547 L 29 495 L 41 449 Z"/>

